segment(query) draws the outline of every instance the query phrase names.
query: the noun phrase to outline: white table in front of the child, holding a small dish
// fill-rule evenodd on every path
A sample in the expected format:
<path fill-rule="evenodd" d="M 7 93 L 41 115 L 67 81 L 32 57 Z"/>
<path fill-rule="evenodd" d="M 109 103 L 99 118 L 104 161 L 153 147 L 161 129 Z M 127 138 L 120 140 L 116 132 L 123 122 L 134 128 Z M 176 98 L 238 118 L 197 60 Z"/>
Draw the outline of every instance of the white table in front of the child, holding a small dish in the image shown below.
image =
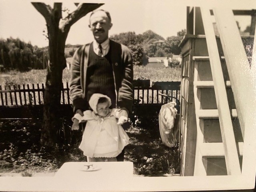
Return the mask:
<path fill-rule="evenodd" d="M 62 178 L 84 178 L 85 180 L 106 179 L 106 178 L 124 178 L 132 177 L 132 162 L 91 162 L 93 166 L 97 166 L 100 170 L 84 171 L 87 162 L 66 162 L 56 172 L 55 177 Z"/>

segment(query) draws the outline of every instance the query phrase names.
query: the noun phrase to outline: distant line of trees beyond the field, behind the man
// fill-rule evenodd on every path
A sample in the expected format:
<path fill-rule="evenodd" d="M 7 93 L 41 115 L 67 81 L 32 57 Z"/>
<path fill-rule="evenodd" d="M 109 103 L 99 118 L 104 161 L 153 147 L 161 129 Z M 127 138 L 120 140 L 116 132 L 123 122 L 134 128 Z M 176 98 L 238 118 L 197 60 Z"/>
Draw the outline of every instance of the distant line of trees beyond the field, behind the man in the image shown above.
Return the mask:
<path fill-rule="evenodd" d="M 149 57 L 171 57 L 172 54 L 180 54 L 178 45 L 185 34 L 186 30 L 181 30 L 177 36 L 170 36 L 165 40 L 152 30 L 148 30 L 143 34 L 135 34 L 135 32 L 115 34 L 110 38 L 130 48 L 134 65 L 143 65 L 148 63 Z M 79 46 L 67 44 L 65 58 L 72 57 Z M 0 39 L 0 65 L 6 70 L 45 69 L 48 60 L 48 47 L 38 48 L 19 38 Z"/>

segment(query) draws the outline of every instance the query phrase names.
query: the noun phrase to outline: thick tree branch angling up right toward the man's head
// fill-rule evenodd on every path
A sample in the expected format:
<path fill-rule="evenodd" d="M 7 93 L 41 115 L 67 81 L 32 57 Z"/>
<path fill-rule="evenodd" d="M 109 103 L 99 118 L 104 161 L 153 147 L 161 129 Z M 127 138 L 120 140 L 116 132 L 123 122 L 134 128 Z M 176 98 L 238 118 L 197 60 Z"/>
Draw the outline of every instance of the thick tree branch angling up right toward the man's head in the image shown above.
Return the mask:
<path fill-rule="evenodd" d="M 63 19 L 63 28 L 70 28 L 75 22 L 80 18 L 86 16 L 89 12 L 99 8 L 103 4 L 94 4 L 94 3 L 80 3 L 74 12 L 69 14 L 66 18 Z"/>

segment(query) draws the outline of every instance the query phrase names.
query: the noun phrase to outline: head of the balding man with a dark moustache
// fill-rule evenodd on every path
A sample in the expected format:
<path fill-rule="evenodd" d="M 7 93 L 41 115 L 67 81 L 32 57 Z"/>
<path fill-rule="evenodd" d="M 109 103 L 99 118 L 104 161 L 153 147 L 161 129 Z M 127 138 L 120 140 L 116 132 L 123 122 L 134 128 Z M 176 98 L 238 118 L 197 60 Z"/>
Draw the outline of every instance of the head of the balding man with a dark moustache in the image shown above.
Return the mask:
<path fill-rule="evenodd" d="M 90 15 L 89 27 L 93 33 L 94 39 L 99 43 L 103 43 L 108 39 L 108 30 L 112 27 L 109 12 L 105 10 L 95 10 Z"/>

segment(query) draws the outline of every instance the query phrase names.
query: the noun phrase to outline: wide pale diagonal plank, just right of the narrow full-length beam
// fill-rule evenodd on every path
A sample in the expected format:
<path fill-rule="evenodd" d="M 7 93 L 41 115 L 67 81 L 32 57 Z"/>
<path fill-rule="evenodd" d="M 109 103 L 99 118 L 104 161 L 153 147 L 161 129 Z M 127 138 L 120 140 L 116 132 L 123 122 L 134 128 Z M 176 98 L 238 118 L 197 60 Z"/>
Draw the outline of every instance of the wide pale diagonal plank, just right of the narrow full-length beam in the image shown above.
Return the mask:
<path fill-rule="evenodd" d="M 250 66 L 232 10 L 215 8 L 213 11 L 218 31 L 220 32 L 220 41 L 234 93 L 240 128 L 244 137 L 248 105 L 248 96 L 246 94 L 248 92 L 247 77 L 250 73 Z"/>

